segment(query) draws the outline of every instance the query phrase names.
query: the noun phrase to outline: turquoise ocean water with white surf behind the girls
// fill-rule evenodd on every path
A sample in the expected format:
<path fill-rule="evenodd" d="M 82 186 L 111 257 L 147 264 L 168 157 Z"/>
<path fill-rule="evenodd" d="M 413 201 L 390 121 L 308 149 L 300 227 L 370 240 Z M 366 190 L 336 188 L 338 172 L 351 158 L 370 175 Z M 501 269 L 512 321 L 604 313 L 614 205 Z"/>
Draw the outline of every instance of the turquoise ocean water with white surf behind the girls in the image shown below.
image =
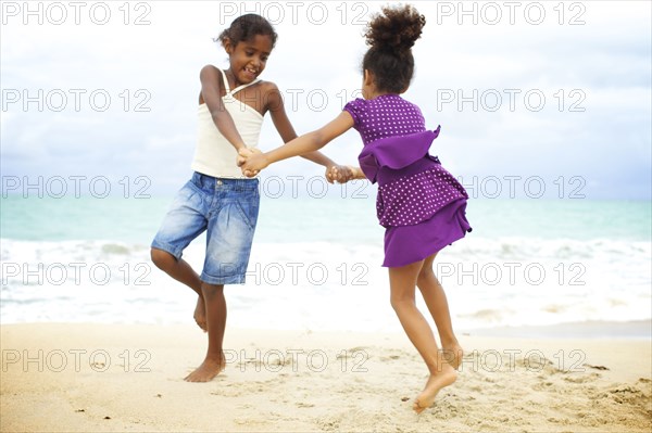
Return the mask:
<path fill-rule="evenodd" d="M 171 200 L 2 198 L 1 322 L 192 322 L 197 296 L 149 260 Z M 474 231 L 436 260 L 455 328 L 650 320 L 651 209 L 649 201 L 469 201 Z M 371 189 L 264 195 L 248 282 L 226 289 L 229 326 L 400 331 L 383 234 Z M 204 242 L 185 252 L 196 269 Z"/>

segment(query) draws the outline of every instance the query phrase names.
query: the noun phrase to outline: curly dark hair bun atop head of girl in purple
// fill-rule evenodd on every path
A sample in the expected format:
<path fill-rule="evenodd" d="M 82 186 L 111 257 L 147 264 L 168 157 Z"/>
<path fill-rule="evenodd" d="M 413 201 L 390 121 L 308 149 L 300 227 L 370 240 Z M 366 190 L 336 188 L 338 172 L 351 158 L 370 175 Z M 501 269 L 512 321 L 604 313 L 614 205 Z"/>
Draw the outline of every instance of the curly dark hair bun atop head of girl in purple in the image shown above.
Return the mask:
<path fill-rule="evenodd" d="M 402 54 L 421 38 L 425 25 L 426 17 L 411 4 L 388 5 L 368 23 L 364 36 L 372 48 Z"/>

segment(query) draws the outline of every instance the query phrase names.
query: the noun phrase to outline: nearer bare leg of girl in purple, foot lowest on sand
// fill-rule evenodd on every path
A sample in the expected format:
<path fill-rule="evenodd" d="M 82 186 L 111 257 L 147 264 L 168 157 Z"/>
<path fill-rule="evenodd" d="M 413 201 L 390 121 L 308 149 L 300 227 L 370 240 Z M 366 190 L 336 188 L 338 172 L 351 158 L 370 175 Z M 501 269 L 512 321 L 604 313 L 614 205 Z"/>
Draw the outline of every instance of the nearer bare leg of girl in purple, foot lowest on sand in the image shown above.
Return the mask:
<path fill-rule="evenodd" d="M 400 268 L 389 268 L 391 306 L 430 372 L 426 387 L 414 402 L 413 409 L 417 413 L 432 406 L 439 390 L 452 384 L 457 378 L 455 370 L 439 353 L 432 330 L 414 301 L 416 280 L 423 264 L 422 260 Z"/>

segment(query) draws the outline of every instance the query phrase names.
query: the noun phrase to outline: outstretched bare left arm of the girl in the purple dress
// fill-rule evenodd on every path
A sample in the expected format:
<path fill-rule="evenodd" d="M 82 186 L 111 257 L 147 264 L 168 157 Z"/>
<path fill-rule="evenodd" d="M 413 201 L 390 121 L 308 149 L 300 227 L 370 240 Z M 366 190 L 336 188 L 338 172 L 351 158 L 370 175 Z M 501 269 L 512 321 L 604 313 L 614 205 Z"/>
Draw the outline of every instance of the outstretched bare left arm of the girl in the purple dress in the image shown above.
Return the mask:
<path fill-rule="evenodd" d="M 242 171 L 262 170 L 269 164 L 278 161 L 317 151 L 352 127 L 353 117 L 351 117 L 348 112 L 343 111 L 334 120 L 317 130 L 301 136 L 273 151 L 256 153 L 247 157 L 247 161 L 241 164 Z"/>

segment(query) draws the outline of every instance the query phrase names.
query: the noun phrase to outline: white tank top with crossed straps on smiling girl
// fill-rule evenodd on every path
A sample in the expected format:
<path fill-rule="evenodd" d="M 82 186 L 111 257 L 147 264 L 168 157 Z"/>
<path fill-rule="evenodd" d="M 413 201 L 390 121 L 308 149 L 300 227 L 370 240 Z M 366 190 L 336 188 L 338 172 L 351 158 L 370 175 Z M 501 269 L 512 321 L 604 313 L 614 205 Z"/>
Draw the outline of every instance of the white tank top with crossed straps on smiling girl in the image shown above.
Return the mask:
<path fill-rule="evenodd" d="M 234 98 L 234 94 L 260 80 L 255 79 L 231 91 L 226 74 L 222 69 L 220 72 L 226 88 L 226 94 L 222 98 L 224 106 L 233 117 L 236 129 L 242 137 L 244 144 L 248 148 L 258 148 L 261 127 L 263 126 L 263 115 L 252 106 L 238 101 Z M 199 105 L 198 115 L 198 139 L 191 168 L 212 177 L 247 179 L 240 167 L 236 165 L 238 156 L 236 148 L 220 132 L 205 102 Z"/>

